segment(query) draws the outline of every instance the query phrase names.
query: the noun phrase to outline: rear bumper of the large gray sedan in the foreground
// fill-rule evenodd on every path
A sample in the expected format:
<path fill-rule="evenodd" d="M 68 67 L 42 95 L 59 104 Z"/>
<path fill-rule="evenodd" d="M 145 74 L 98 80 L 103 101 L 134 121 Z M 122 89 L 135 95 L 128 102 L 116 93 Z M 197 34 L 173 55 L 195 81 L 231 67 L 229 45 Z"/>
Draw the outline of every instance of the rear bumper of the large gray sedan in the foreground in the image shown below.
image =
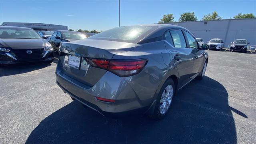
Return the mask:
<path fill-rule="evenodd" d="M 92 87 L 78 82 L 61 71 L 62 64 L 58 63 L 56 68 L 56 82 L 60 88 L 72 98 L 82 104 L 96 110 L 103 116 L 126 115 L 143 113 L 148 110 L 153 102 L 153 97 L 142 100 L 135 90 L 130 86 L 127 78 L 121 78 L 111 72 L 104 76 Z M 97 97 L 115 100 L 114 103 L 103 102 Z"/>

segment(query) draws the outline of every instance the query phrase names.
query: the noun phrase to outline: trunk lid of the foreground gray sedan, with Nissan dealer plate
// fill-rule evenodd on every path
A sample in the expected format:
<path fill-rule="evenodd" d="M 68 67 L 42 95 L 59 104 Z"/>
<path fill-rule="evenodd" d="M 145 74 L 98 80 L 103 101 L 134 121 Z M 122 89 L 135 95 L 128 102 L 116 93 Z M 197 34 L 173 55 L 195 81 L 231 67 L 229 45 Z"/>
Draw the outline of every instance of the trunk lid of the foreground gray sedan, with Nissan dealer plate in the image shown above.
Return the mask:
<path fill-rule="evenodd" d="M 60 45 L 62 72 L 88 86 L 94 86 L 106 69 L 90 66 L 85 58 L 112 59 L 114 54 L 132 50 L 136 44 L 84 39 Z"/>

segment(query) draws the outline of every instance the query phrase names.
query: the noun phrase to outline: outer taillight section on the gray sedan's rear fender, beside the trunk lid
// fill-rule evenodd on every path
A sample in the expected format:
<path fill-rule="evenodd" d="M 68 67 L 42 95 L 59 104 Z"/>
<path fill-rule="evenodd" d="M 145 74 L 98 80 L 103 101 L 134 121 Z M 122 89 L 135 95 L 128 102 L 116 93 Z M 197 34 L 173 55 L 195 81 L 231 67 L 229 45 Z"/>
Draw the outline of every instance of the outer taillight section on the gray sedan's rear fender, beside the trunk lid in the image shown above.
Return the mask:
<path fill-rule="evenodd" d="M 108 71 L 125 77 L 138 74 L 146 65 L 147 60 L 110 60 Z"/>

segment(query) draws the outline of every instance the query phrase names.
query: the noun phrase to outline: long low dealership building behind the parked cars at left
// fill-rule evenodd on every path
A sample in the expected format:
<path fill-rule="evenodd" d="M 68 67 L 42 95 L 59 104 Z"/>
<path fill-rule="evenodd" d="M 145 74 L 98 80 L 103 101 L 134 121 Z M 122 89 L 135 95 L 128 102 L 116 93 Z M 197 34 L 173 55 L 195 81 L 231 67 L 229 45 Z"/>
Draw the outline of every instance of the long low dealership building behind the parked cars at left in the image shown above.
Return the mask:
<path fill-rule="evenodd" d="M 68 30 L 68 26 L 61 26 L 55 24 L 42 24 L 42 23 L 26 23 L 26 22 L 3 22 L 1 26 L 19 26 L 32 28 L 35 31 L 47 30 L 47 31 L 56 31 L 56 30 Z"/>

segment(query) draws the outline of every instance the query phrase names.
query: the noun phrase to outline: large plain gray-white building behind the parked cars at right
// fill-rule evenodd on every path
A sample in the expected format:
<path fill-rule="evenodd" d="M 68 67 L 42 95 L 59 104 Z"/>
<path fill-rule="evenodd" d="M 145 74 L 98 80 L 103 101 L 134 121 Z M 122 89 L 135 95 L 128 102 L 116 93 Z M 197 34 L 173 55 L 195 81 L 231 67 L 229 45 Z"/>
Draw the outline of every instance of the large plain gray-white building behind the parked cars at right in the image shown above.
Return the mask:
<path fill-rule="evenodd" d="M 230 44 L 235 39 L 246 39 L 250 45 L 256 45 L 256 18 L 166 24 L 187 28 L 196 38 L 203 38 L 204 42 L 212 38 L 222 38 L 225 44 Z"/>

